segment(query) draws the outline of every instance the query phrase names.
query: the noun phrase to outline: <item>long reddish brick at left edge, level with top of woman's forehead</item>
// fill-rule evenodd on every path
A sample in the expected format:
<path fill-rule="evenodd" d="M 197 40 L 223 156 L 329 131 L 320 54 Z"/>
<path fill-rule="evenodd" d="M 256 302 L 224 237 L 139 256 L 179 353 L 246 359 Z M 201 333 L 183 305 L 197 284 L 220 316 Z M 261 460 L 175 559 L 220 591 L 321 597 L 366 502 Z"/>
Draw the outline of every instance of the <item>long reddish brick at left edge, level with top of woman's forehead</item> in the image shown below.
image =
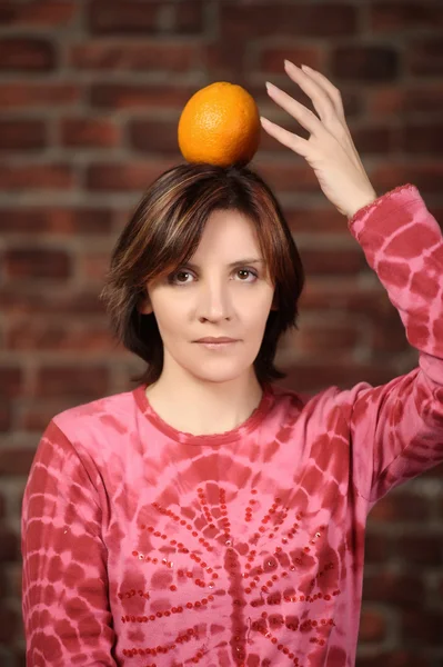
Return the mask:
<path fill-rule="evenodd" d="M 112 212 L 102 208 L 2 208 L 0 232 L 58 236 L 104 235 L 112 231 Z"/>

